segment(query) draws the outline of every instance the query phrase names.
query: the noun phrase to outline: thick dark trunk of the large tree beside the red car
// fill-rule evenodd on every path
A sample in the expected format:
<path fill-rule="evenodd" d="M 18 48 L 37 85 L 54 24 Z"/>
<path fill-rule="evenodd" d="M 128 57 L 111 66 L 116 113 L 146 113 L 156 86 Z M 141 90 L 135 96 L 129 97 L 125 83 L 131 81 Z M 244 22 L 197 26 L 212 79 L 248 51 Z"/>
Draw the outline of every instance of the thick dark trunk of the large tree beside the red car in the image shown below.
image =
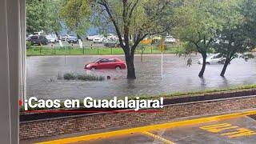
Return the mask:
<path fill-rule="evenodd" d="M 134 69 L 134 54 L 126 55 L 126 66 L 127 66 L 127 79 L 136 79 L 135 69 Z"/>

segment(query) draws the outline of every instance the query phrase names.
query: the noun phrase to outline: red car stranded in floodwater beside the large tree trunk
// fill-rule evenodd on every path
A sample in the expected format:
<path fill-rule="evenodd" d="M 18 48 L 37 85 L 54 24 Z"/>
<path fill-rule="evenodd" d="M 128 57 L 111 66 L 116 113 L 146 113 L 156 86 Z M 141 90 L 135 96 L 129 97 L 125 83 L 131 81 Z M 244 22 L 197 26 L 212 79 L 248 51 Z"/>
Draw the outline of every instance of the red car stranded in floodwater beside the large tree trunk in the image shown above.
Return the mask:
<path fill-rule="evenodd" d="M 94 62 L 86 64 L 85 69 L 96 70 L 96 69 L 126 69 L 126 63 L 120 58 L 98 58 Z"/>

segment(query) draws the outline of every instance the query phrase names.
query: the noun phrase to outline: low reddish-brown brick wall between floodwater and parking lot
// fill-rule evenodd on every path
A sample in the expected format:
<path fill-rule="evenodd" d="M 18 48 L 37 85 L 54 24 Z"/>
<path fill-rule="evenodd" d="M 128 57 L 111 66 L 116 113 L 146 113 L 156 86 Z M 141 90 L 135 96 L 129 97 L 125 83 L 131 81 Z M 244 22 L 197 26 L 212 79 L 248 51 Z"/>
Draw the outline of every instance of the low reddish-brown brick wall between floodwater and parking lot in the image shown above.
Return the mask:
<path fill-rule="evenodd" d="M 88 132 L 106 128 L 124 129 L 134 126 L 146 126 L 153 123 L 170 122 L 174 118 L 183 118 L 200 114 L 219 114 L 234 110 L 256 108 L 256 96 L 230 98 L 209 102 L 192 102 L 165 106 L 162 113 L 118 113 L 92 114 L 66 118 L 54 118 L 34 122 L 21 122 L 20 138 L 41 138 L 76 132 Z"/>

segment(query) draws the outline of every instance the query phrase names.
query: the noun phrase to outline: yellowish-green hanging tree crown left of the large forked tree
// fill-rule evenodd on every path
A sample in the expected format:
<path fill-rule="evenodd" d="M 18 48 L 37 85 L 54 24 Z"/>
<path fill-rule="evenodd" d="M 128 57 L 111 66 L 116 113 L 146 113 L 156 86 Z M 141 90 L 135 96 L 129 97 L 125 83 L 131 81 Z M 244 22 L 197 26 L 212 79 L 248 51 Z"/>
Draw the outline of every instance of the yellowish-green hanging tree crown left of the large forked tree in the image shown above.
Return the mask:
<path fill-rule="evenodd" d="M 67 29 L 75 31 L 78 39 L 81 39 L 81 35 L 88 29 L 90 14 L 90 0 L 66 0 L 60 10 L 60 16 Z"/>

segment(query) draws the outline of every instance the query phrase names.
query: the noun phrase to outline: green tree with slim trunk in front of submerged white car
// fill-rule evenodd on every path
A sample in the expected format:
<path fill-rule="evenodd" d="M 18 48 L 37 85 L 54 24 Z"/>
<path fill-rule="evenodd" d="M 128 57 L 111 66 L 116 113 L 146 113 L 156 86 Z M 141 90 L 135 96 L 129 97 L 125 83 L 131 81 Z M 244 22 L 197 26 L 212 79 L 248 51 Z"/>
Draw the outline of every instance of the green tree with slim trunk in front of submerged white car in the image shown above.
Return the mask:
<path fill-rule="evenodd" d="M 186 46 L 195 46 L 195 49 L 186 48 L 185 53 L 197 50 L 202 55 L 202 69 L 198 74 L 200 78 L 206 70 L 207 53 L 211 50 L 216 31 L 221 28 L 216 12 L 220 6 L 221 1 L 185 0 L 179 11 L 183 24 L 175 29 L 175 33 L 187 43 Z"/>

